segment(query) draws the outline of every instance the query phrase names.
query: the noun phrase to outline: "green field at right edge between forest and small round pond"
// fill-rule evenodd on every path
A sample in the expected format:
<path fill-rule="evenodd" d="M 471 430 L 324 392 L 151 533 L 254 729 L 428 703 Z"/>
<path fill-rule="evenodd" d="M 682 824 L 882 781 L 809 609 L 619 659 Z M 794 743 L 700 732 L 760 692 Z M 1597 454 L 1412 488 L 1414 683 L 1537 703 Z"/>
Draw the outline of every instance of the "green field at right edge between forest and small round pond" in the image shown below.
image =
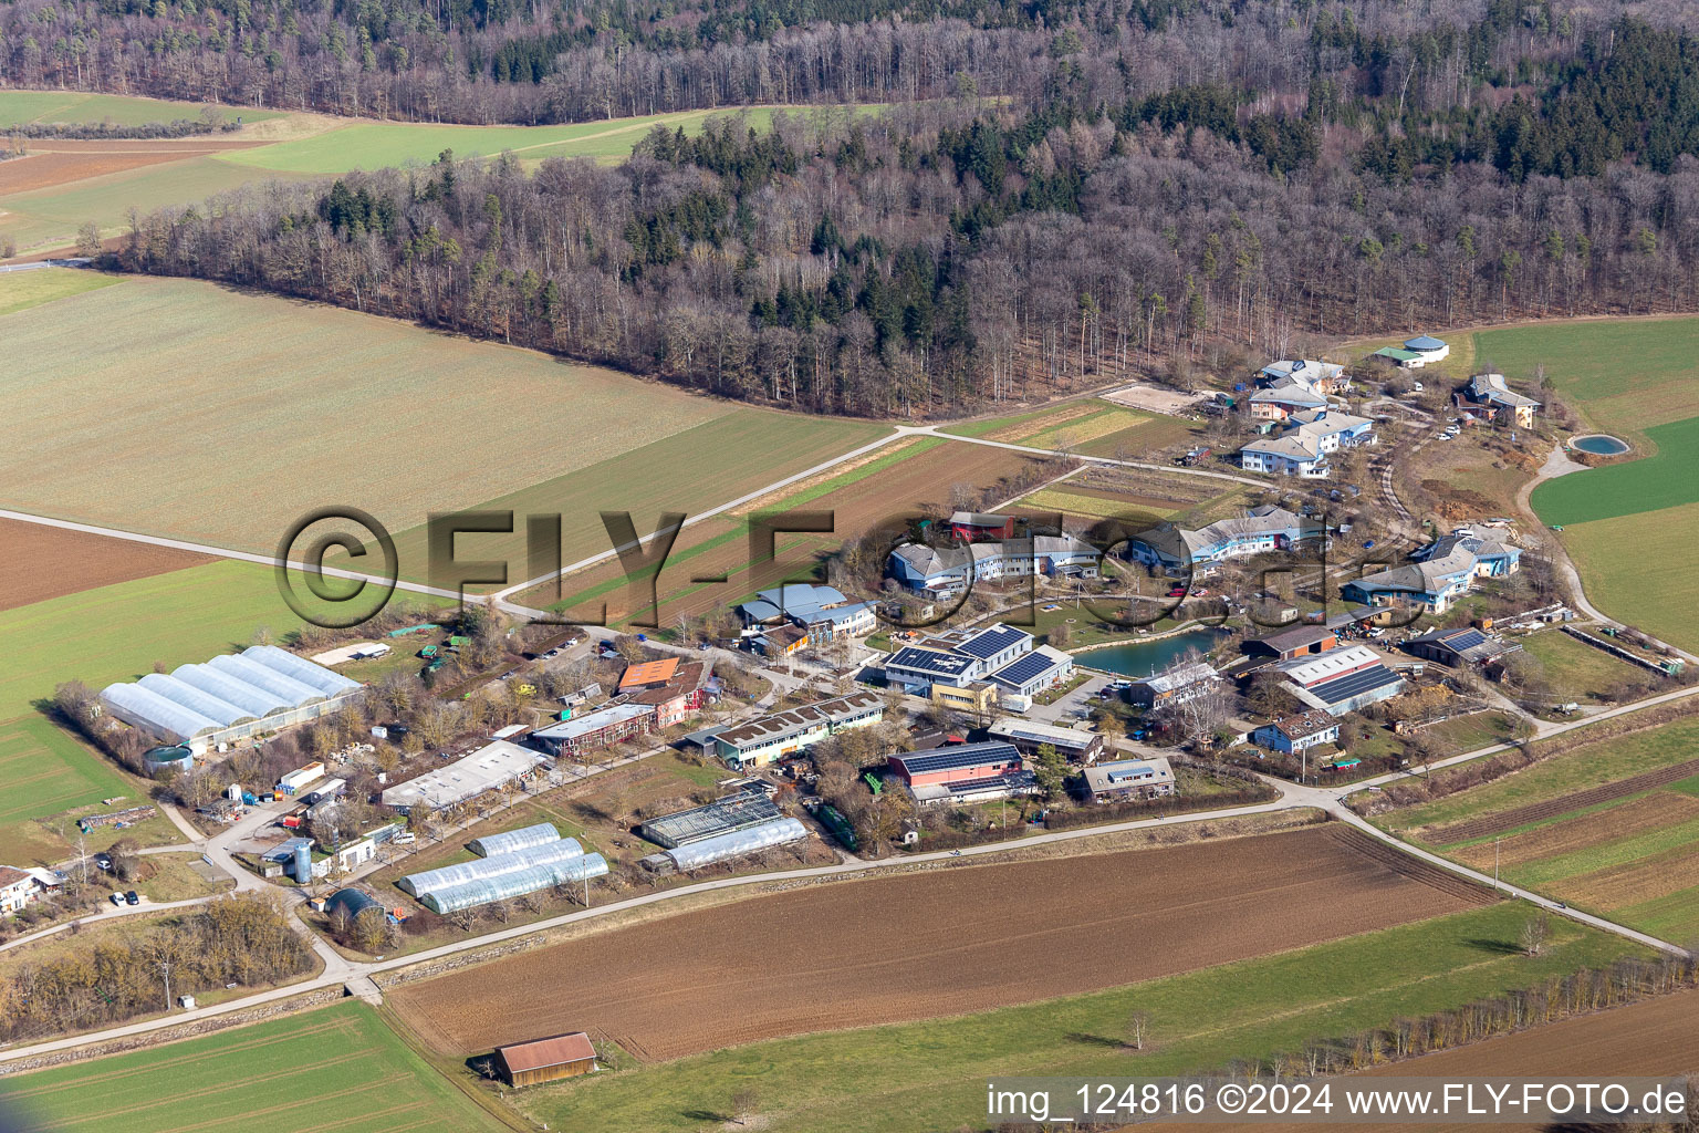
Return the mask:
<path fill-rule="evenodd" d="M 1699 318 L 1595 319 L 1480 331 L 1475 357 L 1516 382 L 1544 365 L 1595 428 L 1638 431 L 1699 416 L 1696 341 Z"/>

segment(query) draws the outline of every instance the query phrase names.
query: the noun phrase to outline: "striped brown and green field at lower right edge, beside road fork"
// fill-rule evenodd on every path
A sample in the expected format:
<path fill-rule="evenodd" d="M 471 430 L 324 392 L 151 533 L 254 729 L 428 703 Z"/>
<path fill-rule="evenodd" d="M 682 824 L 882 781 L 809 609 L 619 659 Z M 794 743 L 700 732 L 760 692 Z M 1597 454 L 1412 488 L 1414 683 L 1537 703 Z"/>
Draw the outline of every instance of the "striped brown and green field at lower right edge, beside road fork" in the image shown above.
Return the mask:
<path fill-rule="evenodd" d="M 1699 939 L 1699 722 L 1555 756 L 1388 815 L 1476 870 L 1665 939 Z"/>

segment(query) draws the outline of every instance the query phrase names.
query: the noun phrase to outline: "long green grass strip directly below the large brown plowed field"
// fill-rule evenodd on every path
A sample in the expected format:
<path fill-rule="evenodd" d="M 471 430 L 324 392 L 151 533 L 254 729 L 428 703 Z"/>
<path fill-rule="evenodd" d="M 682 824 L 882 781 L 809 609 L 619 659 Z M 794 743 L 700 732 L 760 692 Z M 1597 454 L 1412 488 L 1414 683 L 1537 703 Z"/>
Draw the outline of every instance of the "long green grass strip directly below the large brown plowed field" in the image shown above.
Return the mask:
<path fill-rule="evenodd" d="M 1108 992 L 753 1043 L 510 1099 L 550 1130 L 598 1133 L 720 1128 L 739 1089 L 756 1092 L 759 1128 L 773 1133 L 980 1128 L 987 1075 L 1213 1070 L 1633 951 L 1617 938 L 1555 919 L 1553 946 L 1531 960 L 1516 948 L 1526 919 L 1524 905 L 1505 902 Z M 1033 963 L 1065 960 L 1033 956 Z M 1137 972 L 1135 953 L 1128 965 Z M 1150 1045 L 1138 1053 L 1121 1048 L 1133 1011 L 1150 1016 Z"/>

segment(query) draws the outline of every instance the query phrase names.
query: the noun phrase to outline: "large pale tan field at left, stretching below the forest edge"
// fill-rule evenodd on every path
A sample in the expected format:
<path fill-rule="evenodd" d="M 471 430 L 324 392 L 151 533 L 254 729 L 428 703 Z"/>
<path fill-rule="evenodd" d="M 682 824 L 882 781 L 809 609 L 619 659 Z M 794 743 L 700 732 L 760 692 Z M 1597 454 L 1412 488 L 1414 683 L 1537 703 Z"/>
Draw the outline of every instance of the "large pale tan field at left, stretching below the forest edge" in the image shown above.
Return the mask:
<path fill-rule="evenodd" d="M 729 488 L 758 488 L 882 433 L 190 280 L 134 279 L 0 318 L 0 336 L 15 364 L 0 375 L 0 414 L 15 426 L 0 455 L 3 503 L 255 552 L 325 504 L 360 506 L 392 532 L 454 508 L 561 508 L 600 550 L 595 508 L 720 503 Z M 85 411 L 66 418 L 65 404 Z M 522 435 L 466 426 L 518 406 L 535 421 Z M 552 428 L 567 418 L 571 433 Z M 680 467 L 698 445 L 725 445 L 725 459 L 688 491 L 639 476 Z M 313 474 L 289 474 L 299 469 Z M 654 488 L 634 498 L 637 481 Z M 500 496 L 513 484 L 537 488 Z M 401 566 L 425 572 L 421 557 Z"/>

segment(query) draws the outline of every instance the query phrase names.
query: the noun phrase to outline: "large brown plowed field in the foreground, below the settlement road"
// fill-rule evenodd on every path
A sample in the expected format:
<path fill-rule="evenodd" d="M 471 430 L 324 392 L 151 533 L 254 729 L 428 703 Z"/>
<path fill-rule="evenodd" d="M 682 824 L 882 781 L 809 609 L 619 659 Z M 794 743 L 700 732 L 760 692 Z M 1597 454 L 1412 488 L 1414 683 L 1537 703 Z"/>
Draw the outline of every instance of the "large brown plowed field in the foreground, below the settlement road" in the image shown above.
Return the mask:
<path fill-rule="evenodd" d="M 675 1058 L 1133 984 L 1487 900 L 1325 826 L 799 888 L 539 948 L 387 999 L 452 1055 L 586 1029 L 642 1058 Z"/>

